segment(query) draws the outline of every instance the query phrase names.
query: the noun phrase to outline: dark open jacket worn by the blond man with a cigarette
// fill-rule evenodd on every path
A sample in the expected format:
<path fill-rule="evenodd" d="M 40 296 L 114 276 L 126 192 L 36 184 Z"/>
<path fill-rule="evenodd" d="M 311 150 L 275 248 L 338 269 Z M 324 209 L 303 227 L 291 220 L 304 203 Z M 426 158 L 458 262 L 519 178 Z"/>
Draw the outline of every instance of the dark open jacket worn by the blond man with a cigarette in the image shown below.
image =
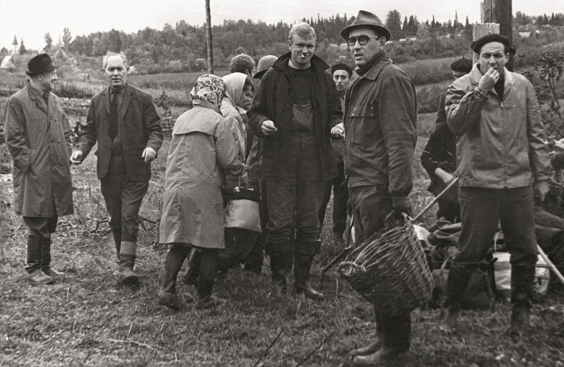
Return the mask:
<path fill-rule="evenodd" d="M 248 111 L 249 124 L 258 137 L 263 139 L 263 172 L 276 176 L 288 155 L 288 140 L 291 136 L 290 126 L 293 116 L 293 91 L 287 74 L 291 53 L 287 52 L 268 69 L 258 86 L 253 106 Z M 319 156 L 323 178 L 328 180 L 337 175 L 337 165 L 331 146 L 331 128 L 342 120 L 339 93 L 325 64 L 317 56 L 311 58 L 311 67 L 315 70 L 313 85 L 312 113 L 313 131 Z M 265 136 L 262 134 L 262 123 L 271 120 L 277 131 Z"/>

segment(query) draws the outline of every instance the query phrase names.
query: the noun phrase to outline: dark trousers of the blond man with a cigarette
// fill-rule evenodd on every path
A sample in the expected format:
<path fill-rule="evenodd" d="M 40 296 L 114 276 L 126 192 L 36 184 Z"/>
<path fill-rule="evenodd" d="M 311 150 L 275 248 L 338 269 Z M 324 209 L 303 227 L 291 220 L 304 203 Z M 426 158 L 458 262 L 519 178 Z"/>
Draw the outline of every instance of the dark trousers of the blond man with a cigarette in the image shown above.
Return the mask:
<path fill-rule="evenodd" d="M 293 133 L 288 156 L 279 175 L 266 176 L 268 226 L 265 250 L 271 256 L 292 253 L 290 234 L 296 230 L 296 243 L 311 248 L 296 249 L 315 256 L 319 250 L 318 210 L 323 199 L 323 173 L 314 135 Z"/>

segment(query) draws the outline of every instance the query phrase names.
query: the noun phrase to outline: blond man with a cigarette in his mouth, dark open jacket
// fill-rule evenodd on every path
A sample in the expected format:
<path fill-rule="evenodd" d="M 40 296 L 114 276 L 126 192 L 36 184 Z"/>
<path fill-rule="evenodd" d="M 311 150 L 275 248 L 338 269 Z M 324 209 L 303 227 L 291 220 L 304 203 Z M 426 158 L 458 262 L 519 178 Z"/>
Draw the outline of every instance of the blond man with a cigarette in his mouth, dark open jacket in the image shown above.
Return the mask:
<path fill-rule="evenodd" d="M 296 292 L 321 300 L 323 294 L 311 287 L 310 269 L 321 245 L 318 210 L 323 181 L 337 173 L 330 131 L 342 114 L 337 89 L 325 73 L 329 65 L 314 55 L 315 44 L 315 30 L 309 24 L 290 29 L 290 52 L 266 71 L 247 114 L 263 140 L 268 186 L 265 250 L 270 255 L 272 295 L 286 293 L 293 261 Z"/>

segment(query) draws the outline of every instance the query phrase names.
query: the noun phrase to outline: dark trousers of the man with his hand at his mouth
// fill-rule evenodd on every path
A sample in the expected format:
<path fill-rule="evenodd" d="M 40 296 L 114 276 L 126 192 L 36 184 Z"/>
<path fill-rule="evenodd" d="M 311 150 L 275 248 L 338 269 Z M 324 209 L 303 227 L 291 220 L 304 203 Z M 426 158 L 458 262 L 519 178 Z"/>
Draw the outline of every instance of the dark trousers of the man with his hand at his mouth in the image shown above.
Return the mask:
<path fill-rule="evenodd" d="M 462 231 L 453 265 L 475 268 L 493 243 L 501 222 L 512 265 L 537 262 L 532 187 L 460 187 Z"/>

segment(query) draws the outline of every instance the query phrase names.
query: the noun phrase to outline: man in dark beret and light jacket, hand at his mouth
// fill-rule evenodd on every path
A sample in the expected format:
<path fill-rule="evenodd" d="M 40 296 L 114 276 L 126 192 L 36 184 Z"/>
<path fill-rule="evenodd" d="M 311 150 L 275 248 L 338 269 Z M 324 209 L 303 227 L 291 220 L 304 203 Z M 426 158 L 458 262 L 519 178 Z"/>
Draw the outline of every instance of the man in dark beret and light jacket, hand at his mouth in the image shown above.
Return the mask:
<path fill-rule="evenodd" d="M 510 332 L 529 325 L 537 262 L 534 197 L 549 189 L 550 154 L 535 89 L 505 68 L 509 38 L 488 34 L 472 43 L 479 56 L 448 88 L 448 127 L 457 137 L 462 232 L 452 262 L 439 328 L 455 329 L 462 293 L 486 255 L 499 222 L 512 264 Z"/>

